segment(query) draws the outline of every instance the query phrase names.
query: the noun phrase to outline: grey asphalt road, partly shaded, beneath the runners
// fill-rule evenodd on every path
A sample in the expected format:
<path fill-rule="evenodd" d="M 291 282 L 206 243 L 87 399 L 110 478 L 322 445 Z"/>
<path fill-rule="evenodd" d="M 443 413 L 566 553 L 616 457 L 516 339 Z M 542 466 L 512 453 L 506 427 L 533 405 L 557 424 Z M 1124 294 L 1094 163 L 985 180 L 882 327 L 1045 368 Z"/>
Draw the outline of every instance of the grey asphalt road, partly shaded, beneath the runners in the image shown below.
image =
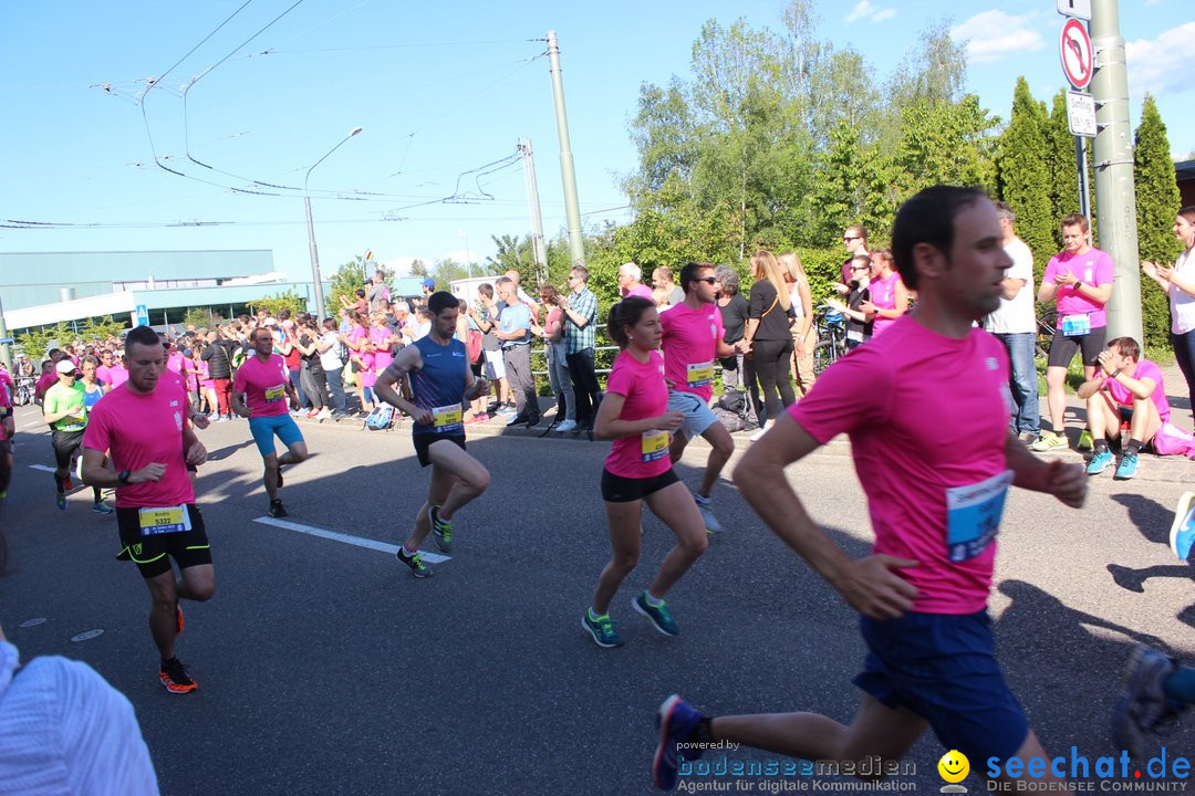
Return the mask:
<path fill-rule="evenodd" d="M 427 488 L 409 431 L 302 427 L 317 456 L 287 473 L 290 520 L 398 544 Z M 147 592 L 114 559 L 115 519 L 88 511 L 78 487 L 59 512 L 50 474 L 30 467 L 53 464 L 48 434 L 31 408 L 18 409 L 18 428 L 0 502 L 12 564 L 0 623 L 25 659 L 87 661 L 128 695 L 164 794 L 648 794 L 652 716 L 674 691 L 713 714 L 847 721 L 858 703 L 856 617 L 729 482 L 715 493 L 725 532 L 669 596 L 682 635 L 657 634 L 630 607 L 670 547 L 652 518 L 612 606 L 627 644 L 605 650 L 580 627 L 609 551 L 605 444 L 471 438 L 492 485 L 458 516 L 453 557 L 416 581 L 386 550 L 256 523 L 261 459 L 240 421 L 201 432 L 214 459 L 201 468 L 200 505 L 217 587 L 185 605 L 178 644 L 202 687 L 172 696 L 157 679 Z M 705 451 L 691 446 L 679 468 L 691 483 Z M 866 512 L 841 446 L 790 479 L 833 538 L 863 555 Z M 1109 716 L 1135 641 L 1195 660 L 1195 569 L 1166 548 L 1183 487 L 1103 477 L 1081 511 L 1010 498 L 991 609 L 1007 679 L 1053 754 L 1116 753 Z M 1195 729 L 1164 742 L 1171 757 L 1193 755 Z M 908 758 L 917 773 L 899 779 L 937 791 L 944 751 L 927 734 Z M 784 784 L 748 784 L 765 792 L 765 780 Z"/>

